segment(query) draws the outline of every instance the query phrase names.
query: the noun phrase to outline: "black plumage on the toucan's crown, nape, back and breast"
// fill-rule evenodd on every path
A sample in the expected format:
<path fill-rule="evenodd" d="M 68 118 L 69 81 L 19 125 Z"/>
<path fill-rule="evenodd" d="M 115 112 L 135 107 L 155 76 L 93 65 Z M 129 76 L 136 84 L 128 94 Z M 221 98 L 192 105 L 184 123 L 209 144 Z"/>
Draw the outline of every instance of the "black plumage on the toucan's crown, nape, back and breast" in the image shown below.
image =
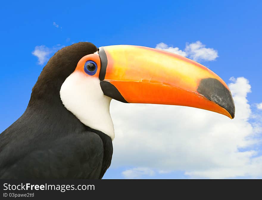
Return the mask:
<path fill-rule="evenodd" d="M 68 111 L 60 88 L 77 62 L 97 51 L 89 42 L 59 50 L 43 68 L 24 114 L 0 134 L 1 179 L 98 179 L 110 166 L 109 136 Z"/>

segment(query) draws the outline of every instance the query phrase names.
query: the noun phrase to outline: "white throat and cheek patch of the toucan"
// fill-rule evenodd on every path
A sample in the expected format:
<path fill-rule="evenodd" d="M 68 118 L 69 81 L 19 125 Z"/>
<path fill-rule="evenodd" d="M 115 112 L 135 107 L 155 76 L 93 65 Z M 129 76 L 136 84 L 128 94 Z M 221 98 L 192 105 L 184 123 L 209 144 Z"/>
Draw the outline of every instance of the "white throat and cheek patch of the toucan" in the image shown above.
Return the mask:
<path fill-rule="evenodd" d="M 83 124 L 115 137 L 109 106 L 112 98 L 102 92 L 100 80 L 80 72 L 69 75 L 60 89 L 60 98 Z"/>

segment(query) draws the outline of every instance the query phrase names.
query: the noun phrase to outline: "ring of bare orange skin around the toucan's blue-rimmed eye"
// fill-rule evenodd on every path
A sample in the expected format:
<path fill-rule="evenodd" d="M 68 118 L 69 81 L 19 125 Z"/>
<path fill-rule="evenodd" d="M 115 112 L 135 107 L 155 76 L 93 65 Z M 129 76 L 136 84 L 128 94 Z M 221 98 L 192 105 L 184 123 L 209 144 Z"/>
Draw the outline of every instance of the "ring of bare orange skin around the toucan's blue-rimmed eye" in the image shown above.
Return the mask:
<path fill-rule="evenodd" d="M 92 60 L 97 64 L 97 70 L 96 70 L 96 73 L 94 75 L 89 75 L 89 74 L 85 73 L 84 66 L 85 66 L 85 62 L 88 61 L 88 60 Z M 93 53 L 93 54 L 86 55 L 79 60 L 79 62 L 77 63 L 77 67 L 75 69 L 75 72 L 78 71 L 78 72 L 85 74 L 86 76 L 98 78 L 99 72 L 100 72 L 100 67 L 101 67 L 101 64 L 100 64 L 99 55 L 96 54 L 96 53 Z"/>

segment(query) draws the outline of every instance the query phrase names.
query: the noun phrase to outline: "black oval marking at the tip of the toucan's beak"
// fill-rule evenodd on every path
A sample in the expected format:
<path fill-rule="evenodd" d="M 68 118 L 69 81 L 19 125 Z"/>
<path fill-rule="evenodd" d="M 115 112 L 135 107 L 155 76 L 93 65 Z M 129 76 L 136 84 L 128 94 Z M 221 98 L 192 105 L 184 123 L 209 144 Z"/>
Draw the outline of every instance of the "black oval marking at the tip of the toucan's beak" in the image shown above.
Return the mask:
<path fill-rule="evenodd" d="M 204 78 L 200 81 L 197 92 L 208 100 L 225 108 L 232 118 L 235 117 L 235 104 L 231 92 L 217 79 Z"/>

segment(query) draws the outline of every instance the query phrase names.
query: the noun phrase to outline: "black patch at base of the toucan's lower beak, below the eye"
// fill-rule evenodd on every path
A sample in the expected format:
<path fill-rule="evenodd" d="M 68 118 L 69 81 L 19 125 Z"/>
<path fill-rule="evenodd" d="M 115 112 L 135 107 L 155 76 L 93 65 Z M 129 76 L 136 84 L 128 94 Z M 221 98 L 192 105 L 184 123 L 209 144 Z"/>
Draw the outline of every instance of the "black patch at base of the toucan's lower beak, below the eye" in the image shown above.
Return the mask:
<path fill-rule="evenodd" d="M 128 103 L 113 84 L 107 81 L 100 81 L 100 86 L 104 95 L 106 95 L 107 97 L 111 97 L 123 103 Z"/>

